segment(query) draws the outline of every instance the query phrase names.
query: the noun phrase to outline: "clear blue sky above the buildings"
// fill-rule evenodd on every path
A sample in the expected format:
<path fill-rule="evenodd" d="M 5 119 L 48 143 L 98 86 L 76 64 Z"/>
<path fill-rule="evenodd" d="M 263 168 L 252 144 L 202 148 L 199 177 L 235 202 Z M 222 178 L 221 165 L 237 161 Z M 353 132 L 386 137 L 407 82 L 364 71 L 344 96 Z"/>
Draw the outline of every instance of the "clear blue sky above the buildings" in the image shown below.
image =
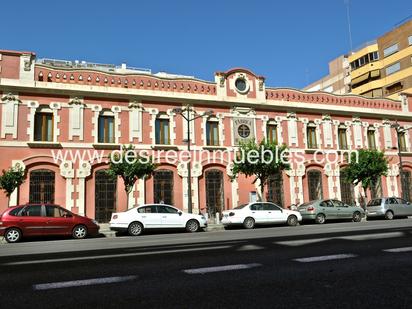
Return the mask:
<path fill-rule="evenodd" d="M 214 80 L 234 67 L 303 88 L 412 15 L 411 0 L 5 1 L 0 49 Z"/>

